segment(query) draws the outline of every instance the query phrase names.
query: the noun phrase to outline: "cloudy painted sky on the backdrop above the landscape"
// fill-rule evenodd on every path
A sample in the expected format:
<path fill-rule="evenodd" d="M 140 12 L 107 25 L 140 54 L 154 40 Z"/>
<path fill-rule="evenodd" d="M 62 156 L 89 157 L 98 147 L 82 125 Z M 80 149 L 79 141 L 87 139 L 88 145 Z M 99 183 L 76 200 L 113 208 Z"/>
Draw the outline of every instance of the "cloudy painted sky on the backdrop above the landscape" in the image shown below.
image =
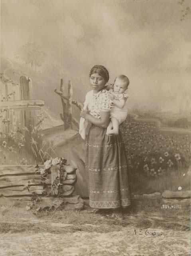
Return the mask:
<path fill-rule="evenodd" d="M 46 62 L 61 66 L 65 79 L 84 88 L 90 68 L 102 64 L 110 82 L 118 74 L 129 77 L 132 106 L 172 110 L 189 97 L 190 28 L 190 0 L 1 0 L 1 42 L 8 58 L 35 41 L 47 53 Z"/>

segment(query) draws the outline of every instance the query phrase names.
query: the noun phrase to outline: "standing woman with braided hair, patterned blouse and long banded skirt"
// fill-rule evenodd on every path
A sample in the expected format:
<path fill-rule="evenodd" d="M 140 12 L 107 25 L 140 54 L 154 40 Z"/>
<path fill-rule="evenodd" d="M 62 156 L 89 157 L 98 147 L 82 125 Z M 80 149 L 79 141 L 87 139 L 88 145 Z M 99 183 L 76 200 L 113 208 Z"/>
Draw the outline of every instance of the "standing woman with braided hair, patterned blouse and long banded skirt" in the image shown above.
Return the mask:
<path fill-rule="evenodd" d="M 111 100 L 104 89 L 109 80 L 104 66 L 94 66 L 90 71 L 92 91 L 86 95 L 87 109 L 81 117 L 91 122 L 85 138 L 85 167 L 89 178 L 89 204 L 99 209 L 115 209 L 130 205 L 130 186 L 121 133 L 106 135 L 110 122 Z"/>

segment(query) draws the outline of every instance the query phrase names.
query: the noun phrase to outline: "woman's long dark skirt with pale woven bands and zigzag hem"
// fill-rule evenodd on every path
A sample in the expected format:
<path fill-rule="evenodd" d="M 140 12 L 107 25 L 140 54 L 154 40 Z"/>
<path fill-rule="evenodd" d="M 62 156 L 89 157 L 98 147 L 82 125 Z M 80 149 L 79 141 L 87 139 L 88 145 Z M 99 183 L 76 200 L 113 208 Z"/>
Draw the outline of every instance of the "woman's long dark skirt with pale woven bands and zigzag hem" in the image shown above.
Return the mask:
<path fill-rule="evenodd" d="M 130 185 L 122 135 L 106 135 L 106 129 L 92 125 L 85 143 L 85 167 L 89 204 L 93 208 L 130 205 Z"/>

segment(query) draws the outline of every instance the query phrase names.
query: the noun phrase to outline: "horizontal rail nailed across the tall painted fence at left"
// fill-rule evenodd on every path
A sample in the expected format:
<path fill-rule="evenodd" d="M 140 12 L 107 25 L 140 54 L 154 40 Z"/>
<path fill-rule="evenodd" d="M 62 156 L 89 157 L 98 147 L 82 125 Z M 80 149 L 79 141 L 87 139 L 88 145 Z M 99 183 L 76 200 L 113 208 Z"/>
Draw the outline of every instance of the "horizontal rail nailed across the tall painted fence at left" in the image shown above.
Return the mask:
<path fill-rule="evenodd" d="M 2 101 L 0 108 L 11 109 L 11 108 L 39 108 L 39 106 L 44 106 L 43 100 L 9 100 Z"/>

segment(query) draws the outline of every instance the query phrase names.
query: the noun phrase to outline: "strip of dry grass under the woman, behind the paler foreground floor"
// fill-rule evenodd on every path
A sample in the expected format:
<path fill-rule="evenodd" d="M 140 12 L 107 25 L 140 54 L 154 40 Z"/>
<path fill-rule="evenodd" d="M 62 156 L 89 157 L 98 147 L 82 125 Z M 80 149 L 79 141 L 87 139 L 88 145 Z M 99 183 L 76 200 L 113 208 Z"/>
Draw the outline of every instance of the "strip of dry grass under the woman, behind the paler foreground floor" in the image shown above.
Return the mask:
<path fill-rule="evenodd" d="M 0 199 L 0 232 L 112 232 L 123 227 L 134 229 L 172 229 L 190 230 L 189 200 L 180 201 L 181 208 L 163 209 L 162 199 L 132 200 L 131 206 L 124 212 L 112 216 L 111 211 L 92 213 L 85 205 L 83 210 L 56 210 L 40 212 L 34 215 L 26 210 L 26 202 Z"/>

